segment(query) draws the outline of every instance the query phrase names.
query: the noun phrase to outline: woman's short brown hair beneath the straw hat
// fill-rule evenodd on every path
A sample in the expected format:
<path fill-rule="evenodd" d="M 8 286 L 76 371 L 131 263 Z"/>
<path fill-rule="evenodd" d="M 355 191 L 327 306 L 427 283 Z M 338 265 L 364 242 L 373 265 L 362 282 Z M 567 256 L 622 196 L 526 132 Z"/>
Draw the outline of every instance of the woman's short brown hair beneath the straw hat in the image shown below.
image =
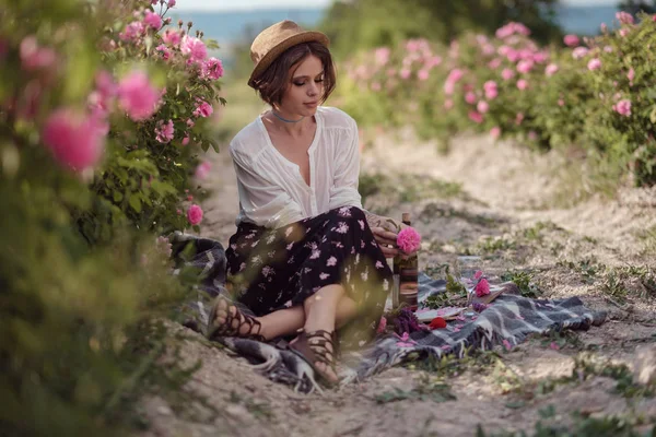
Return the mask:
<path fill-rule="evenodd" d="M 292 68 L 311 55 L 319 58 L 324 66 L 324 95 L 320 102 L 326 102 L 335 90 L 337 79 L 335 64 L 332 63 L 330 50 L 323 44 L 315 42 L 290 47 L 271 62 L 265 72 L 255 80 L 255 88 L 260 98 L 271 106 L 280 105 L 284 92 L 290 86 Z"/>

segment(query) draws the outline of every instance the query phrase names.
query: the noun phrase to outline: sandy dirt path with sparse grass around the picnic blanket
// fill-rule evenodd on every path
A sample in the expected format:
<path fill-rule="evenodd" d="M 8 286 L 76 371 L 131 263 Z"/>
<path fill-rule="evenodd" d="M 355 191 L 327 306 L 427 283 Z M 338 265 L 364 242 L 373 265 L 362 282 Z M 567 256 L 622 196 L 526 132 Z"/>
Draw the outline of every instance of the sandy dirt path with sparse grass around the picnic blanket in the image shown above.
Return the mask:
<path fill-rule="evenodd" d="M 412 212 L 424 238 L 423 268 L 455 262 L 468 250 L 482 256 L 490 274 L 528 272 L 541 297 L 582 296 L 607 309 L 608 321 L 567 338 L 527 341 L 501 352 L 501 359 L 450 375 L 397 367 L 323 397 L 272 383 L 243 359 L 174 328 L 186 338 L 184 362 L 203 363 L 187 385 L 203 401 L 180 405 L 150 398 L 147 435 L 470 436 L 479 424 L 485 433 L 532 434 L 540 411 L 549 409 L 549 421 L 561 424 L 572 421 L 574 411 L 656 417 L 653 399 L 626 400 L 613 392 L 613 378 L 590 375 L 544 388 L 571 376 L 582 352 L 632 366 L 635 349 L 656 340 L 656 290 L 648 282 L 656 267 L 655 190 L 625 189 L 616 200 L 591 197 L 563 208 L 554 199 L 567 190 L 574 196 L 577 187 L 558 182 L 562 164 L 553 156 L 482 137 L 456 139 L 447 156 L 406 131 L 371 132 L 371 138 L 363 143 L 362 173 L 379 191 L 365 206 L 394 217 Z M 227 153 L 209 158 L 209 185 L 216 190 L 203 204 L 202 234 L 226 244 L 237 211 L 234 170 Z M 440 402 L 442 382 L 455 400 Z M 407 399 L 385 401 L 396 388 Z"/>

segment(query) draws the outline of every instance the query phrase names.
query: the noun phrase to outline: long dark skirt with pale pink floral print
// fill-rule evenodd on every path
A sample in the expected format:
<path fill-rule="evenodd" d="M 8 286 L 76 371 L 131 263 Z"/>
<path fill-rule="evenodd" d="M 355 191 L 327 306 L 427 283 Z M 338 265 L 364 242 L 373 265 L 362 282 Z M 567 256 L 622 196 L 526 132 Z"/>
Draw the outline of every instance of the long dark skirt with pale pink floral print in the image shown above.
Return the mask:
<path fill-rule="evenodd" d="M 342 349 L 373 338 L 391 287 L 391 270 L 355 206 L 278 229 L 242 223 L 226 257 L 229 287 L 256 316 L 303 305 L 321 287 L 341 284 L 358 306 L 358 317 L 339 331 Z"/>

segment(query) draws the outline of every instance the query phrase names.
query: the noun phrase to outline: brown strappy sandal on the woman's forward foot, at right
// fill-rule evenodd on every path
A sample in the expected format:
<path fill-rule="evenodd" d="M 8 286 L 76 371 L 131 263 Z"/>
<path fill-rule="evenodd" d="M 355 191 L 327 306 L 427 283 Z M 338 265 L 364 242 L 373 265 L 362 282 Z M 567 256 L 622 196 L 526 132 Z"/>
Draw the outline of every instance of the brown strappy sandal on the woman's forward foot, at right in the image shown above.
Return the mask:
<path fill-rule="evenodd" d="M 327 387 L 335 387 L 338 381 L 331 380 L 325 370 L 317 368 L 317 363 L 323 363 L 329 367 L 335 375 L 335 357 L 337 335 L 333 332 L 328 332 L 319 329 L 314 332 L 301 331 L 296 340 L 289 345 L 289 349 L 303 358 L 319 377 L 319 380 Z"/>

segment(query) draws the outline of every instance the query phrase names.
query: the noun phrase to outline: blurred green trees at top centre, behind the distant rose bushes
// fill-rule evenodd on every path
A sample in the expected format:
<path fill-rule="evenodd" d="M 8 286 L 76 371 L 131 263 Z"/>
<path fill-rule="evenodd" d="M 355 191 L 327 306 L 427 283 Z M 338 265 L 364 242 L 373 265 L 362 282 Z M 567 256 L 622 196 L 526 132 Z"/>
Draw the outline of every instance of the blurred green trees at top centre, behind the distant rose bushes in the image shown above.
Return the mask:
<path fill-rule="evenodd" d="M 493 33 L 508 21 L 520 21 L 535 29 L 540 42 L 560 37 L 553 22 L 557 0 L 355 0 L 336 1 L 320 27 L 338 56 L 353 50 L 395 46 L 409 38 L 448 43 L 471 31 Z"/>

